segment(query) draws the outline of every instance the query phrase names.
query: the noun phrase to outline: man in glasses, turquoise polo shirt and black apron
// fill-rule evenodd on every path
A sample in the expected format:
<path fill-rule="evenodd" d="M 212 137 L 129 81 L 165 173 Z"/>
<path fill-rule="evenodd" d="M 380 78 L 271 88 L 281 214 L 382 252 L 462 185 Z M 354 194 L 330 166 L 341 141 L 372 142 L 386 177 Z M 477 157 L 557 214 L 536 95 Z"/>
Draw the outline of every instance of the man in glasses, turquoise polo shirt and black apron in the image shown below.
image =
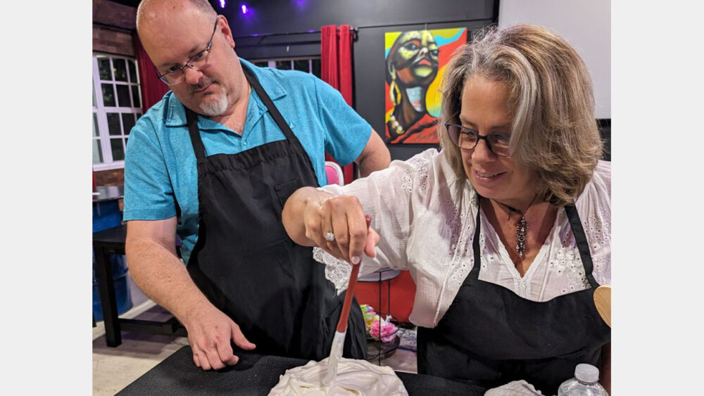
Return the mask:
<path fill-rule="evenodd" d="M 236 364 L 231 340 L 263 354 L 324 358 L 344 294 L 310 248 L 286 236 L 281 210 L 298 187 L 325 183 L 326 151 L 355 160 L 363 176 L 387 167 L 389 151 L 320 79 L 239 59 L 227 20 L 206 0 L 144 0 L 137 31 L 171 91 L 127 146 L 135 283 L 186 327 L 202 369 Z M 363 358 L 364 323 L 352 311 L 345 355 Z"/>

